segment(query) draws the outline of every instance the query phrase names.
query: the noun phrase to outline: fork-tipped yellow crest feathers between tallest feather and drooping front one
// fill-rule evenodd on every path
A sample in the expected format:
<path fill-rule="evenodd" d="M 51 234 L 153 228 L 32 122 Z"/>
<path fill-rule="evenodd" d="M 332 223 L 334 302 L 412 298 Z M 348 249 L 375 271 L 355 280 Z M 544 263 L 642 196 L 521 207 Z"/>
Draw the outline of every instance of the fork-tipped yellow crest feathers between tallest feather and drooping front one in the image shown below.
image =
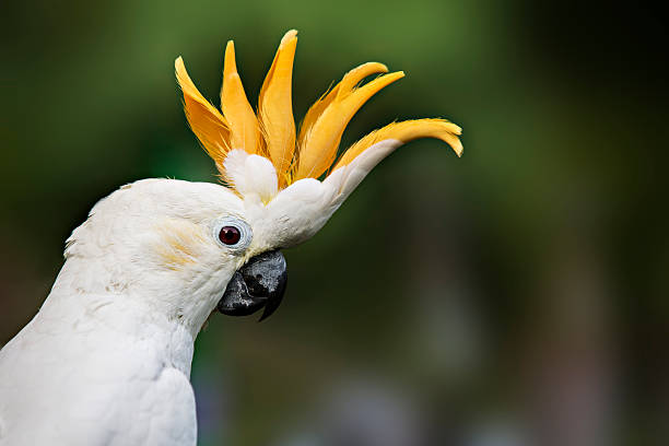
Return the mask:
<path fill-rule="evenodd" d="M 380 63 L 366 64 L 344 75 L 334 93 L 336 96 L 305 134 L 294 179 L 317 178 L 326 172 L 337 157 L 341 136 L 353 115 L 379 90 L 404 77 L 404 73 L 399 71 L 378 77 L 361 87 L 355 87 L 363 74 L 368 75 L 383 68 L 385 67 Z"/>

